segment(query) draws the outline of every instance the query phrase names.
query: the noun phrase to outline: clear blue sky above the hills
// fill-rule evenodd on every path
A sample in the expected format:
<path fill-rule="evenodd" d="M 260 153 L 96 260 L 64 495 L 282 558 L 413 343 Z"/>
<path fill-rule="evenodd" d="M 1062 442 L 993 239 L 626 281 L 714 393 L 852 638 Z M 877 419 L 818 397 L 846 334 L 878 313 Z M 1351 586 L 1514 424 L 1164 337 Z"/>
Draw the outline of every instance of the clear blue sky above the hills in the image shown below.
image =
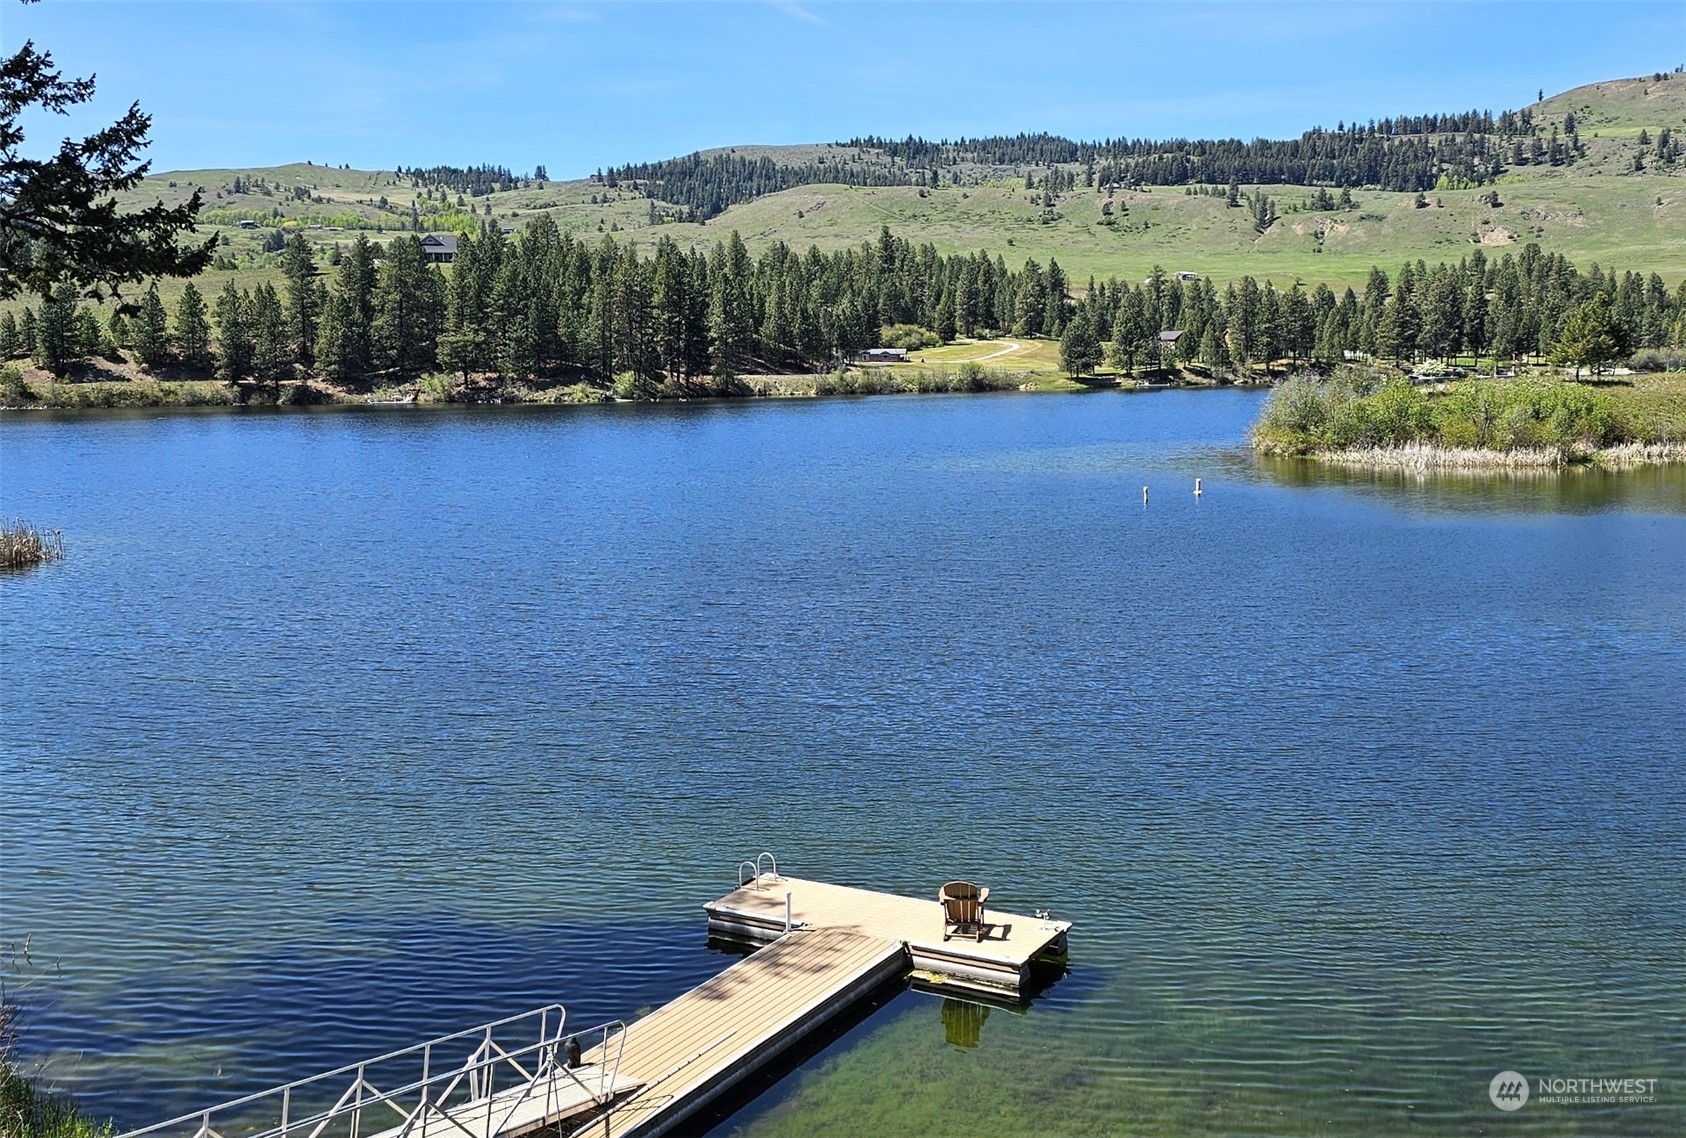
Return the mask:
<path fill-rule="evenodd" d="M 545 164 L 1047 130 L 1297 135 L 1686 62 L 1686 3 L 0 0 L 0 44 L 153 115 L 155 170 Z"/>

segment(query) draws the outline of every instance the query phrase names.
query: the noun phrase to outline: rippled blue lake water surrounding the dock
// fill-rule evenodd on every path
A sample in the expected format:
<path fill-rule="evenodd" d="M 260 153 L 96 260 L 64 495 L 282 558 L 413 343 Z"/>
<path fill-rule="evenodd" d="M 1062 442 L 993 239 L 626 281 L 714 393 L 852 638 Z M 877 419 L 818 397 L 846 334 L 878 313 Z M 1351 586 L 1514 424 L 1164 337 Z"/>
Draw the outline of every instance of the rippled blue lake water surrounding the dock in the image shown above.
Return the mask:
<path fill-rule="evenodd" d="M 25 1055 L 142 1125 L 632 1015 L 771 848 L 1052 907 L 1072 971 L 725 1130 L 1686 1133 L 1686 470 L 1261 465 L 1258 408 L 8 418 L 69 550 L 0 578 Z"/>

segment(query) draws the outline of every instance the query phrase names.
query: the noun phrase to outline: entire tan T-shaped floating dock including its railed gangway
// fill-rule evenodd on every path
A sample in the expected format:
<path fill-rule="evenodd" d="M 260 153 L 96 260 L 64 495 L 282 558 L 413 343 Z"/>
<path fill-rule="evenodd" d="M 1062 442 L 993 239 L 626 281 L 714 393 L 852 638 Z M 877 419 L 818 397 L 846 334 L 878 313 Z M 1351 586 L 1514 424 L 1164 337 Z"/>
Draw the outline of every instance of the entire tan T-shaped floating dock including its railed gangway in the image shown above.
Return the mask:
<path fill-rule="evenodd" d="M 123 1138 L 652 1138 L 890 985 L 1020 1001 L 1064 969 L 1071 931 L 985 909 L 961 934 L 937 900 L 782 877 L 765 853 L 703 910 L 710 934 L 760 947 L 631 1025 L 570 1028 L 548 1005 Z"/>

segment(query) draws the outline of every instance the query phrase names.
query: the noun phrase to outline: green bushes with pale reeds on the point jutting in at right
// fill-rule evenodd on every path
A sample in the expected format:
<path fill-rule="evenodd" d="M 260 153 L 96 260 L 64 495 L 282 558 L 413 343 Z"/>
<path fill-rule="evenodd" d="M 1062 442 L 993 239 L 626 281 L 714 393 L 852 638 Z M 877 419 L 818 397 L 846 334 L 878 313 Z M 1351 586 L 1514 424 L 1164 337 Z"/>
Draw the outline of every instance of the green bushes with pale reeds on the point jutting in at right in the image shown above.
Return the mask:
<path fill-rule="evenodd" d="M 1576 383 L 1472 379 L 1430 393 L 1403 378 L 1339 371 L 1278 386 L 1253 428 L 1253 445 L 1264 454 L 1369 460 L 1409 450 L 1415 465 L 1431 450 L 1455 455 L 1453 465 L 1479 465 L 1482 454 L 1514 465 L 1556 465 L 1649 435 L 1608 395 Z"/>

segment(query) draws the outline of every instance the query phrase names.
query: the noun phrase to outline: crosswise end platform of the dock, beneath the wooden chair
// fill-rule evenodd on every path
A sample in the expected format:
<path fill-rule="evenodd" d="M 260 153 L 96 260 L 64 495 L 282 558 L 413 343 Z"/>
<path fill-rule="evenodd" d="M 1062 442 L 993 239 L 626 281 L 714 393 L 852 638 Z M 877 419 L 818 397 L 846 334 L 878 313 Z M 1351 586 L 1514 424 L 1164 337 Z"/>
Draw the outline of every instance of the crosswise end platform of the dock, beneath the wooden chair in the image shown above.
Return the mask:
<path fill-rule="evenodd" d="M 936 900 L 776 873 L 762 873 L 703 905 L 708 929 L 757 944 L 771 941 L 784 932 L 786 894 L 791 895 L 791 921 L 799 927 L 900 941 L 919 980 L 993 996 L 1023 996 L 1037 964 L 1064 961 L 1071 931 L 1069 921 L 988 909 L 988 932 L 981 941 L 969 936 L 942 939 L 942 905 Z"/>

